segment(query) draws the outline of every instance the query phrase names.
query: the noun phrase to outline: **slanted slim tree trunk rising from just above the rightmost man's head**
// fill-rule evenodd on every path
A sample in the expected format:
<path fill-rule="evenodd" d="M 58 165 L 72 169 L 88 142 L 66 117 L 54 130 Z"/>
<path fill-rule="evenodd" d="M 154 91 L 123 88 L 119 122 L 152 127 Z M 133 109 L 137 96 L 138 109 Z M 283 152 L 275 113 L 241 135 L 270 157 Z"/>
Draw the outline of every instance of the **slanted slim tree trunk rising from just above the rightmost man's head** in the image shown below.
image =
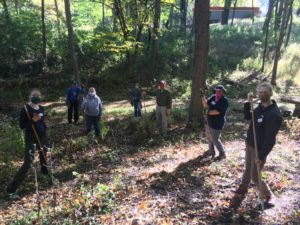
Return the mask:
<path fill-rule="evenodd" d="M 284 0 L 284 12 L 281 20 L 281 25 L 280 25 L 280 33 L 275 49 L 275 57 L 274 57 L 274 64 L 273 64 L 273 71 L 272 71 L 272 79 L 271 79 L 271 84 L 276 85 L 276 79 L 277 79 L 277 67 L 278 67 L 278 61 L 280 58 L 280 50 L 281 50 L 281 45 L 283 42 L 284 34 L 285 34 L 285 24 L 287 20 L 287 14 L 288 14 L 288 5 L 289 5 L 290 0 Z"/>

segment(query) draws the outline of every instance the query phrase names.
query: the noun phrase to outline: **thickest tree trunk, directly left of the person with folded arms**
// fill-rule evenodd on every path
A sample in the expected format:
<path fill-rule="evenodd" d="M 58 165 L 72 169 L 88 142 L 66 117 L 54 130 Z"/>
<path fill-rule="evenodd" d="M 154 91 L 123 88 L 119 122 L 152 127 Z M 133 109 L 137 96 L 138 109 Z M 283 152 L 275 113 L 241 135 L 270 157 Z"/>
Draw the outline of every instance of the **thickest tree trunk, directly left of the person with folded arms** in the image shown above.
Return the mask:
<path fill-rule="evenodd" d="M 208 64 L 209 2 L 209 0 L 195 1 L 195 51 L 188 125 L 198 122 L 203 126 L 204 115 L 200 89 L 205 88 Z"/>

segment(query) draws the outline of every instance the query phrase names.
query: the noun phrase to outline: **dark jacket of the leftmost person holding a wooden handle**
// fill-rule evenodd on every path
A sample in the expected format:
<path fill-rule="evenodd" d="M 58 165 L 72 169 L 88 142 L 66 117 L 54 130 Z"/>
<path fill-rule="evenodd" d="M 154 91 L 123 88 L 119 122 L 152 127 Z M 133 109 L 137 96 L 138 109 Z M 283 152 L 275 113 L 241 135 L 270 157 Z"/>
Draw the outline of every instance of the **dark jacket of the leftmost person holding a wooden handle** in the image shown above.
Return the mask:
<path fill-rule="evenodd" d="M 43 106 L 39 106 L 39 109 L 36 110 L 32 108 L 30 105 L 26 104 L 26 108 L 28 110 L 30 120 L 27 116 L 25 108 L 23 107 L 20 112 L 20 121 L 19 126 L 22 130 L 25 131 L 25 135 L 29 135 L 31 137 L 35 137 L 34 131 L 32 130 L 32 124 L 34 125 L 36 132 L 38 133 L 39 137 L 43 137 L 46 135 L 46 124 L 45 124 L 45 110 Z M 39 114 L 41 119 L 37 122 L 32 120 L 32 117 L 35 114 Z"/>

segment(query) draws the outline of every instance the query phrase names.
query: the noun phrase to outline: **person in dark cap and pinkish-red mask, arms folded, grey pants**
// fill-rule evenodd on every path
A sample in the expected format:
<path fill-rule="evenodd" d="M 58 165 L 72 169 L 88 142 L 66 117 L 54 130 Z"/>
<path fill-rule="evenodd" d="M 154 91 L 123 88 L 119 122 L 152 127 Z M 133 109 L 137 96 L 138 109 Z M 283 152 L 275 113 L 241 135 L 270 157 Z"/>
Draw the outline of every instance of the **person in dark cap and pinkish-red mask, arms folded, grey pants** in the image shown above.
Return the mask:
<path fill-rule="evenodd" d="M 217 85 L 214 91 L 215 94 L 207 100 L 203 99 L 203 105 L 208 108 L 206 134 L 209 151 L 214 157 L 214 147 L 216 147 L 219 152 L 219 156 L 216 159 L 221 160 L 226 158 L 225 149 L 220 137 L 226 123 L 226 113 L 229 103 L 227 97 L 225 97 L 226 90 L 223 85 Z"/>

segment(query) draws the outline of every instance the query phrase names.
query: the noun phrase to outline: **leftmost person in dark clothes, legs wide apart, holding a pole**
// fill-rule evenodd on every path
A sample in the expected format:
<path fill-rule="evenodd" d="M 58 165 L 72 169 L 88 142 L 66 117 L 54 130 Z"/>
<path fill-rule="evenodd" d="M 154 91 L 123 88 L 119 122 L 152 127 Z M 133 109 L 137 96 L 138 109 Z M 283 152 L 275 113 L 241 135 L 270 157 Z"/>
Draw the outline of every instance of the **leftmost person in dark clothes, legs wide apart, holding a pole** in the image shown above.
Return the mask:
<path fill-rule="evenodd" d="M 27 171 L 30 169 L 31 163 L 34 159 L 34 145 L 39 151 L 40 163 L 42 173 L 48 175 L 47 162 L 46 162 L 46 124 L 45 124 L 45 111 L 39 105 L 41 101 L 41 92 L 37 89 L 31 91 L 29 96 L 29 103 L 26 104 L 20 112 L 19 126 L 24 130 L 25 134 L 25 152 L 24 163 L 16 173 L 12 182 L 7 186 L 6 192 L 8 194 L 15 193 L 18 186 L 24 180 Z M 28 118 L 30 117 L 30 119 Z M 35 127 L 38 138 L 42 146 L 39 146 L 39 141 L 34 133 L 32 127 Z"/>

